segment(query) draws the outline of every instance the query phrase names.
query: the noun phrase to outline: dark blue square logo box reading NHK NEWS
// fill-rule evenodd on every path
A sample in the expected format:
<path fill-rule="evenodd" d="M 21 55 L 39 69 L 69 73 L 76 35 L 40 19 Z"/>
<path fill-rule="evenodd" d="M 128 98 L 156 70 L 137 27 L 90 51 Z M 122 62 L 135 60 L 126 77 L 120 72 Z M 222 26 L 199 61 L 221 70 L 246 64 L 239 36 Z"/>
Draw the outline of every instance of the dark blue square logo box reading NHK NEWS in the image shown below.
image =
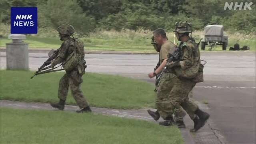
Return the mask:
<path fill-rule="evenodd" d="M 37 7 L 11 7 L 11 34 L 37 34 Z"/>

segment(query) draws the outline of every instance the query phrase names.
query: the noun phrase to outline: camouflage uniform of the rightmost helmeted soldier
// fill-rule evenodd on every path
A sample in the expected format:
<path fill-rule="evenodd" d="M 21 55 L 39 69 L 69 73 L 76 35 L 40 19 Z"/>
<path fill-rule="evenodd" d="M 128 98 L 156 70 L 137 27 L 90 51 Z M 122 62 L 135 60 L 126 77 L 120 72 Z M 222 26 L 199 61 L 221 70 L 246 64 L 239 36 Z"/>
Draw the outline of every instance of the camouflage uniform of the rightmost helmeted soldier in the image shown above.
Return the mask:
<path fill-rule="evenodd" d="M 182 61 L 180 61 L 180 67 L 186 69 L 191 67 L 192 64 L 198 62 L 197 59 L 194 59 L 193 52 L 197 52 L 199 54 L 199 50 L 195 50 L 194 44 L 192 40 L 188 40 L 186 43 L 182 45 Z M 194 60 L 197 60 L 196 62 Z M 168 65 L 168 64 L 167 64 Z M 176 67 L 174 67 L 174 70 Z M 171 70 L 170 73 L 176 74 L 174 70 Z M 170 103 L 166 104 L 166 107 L 162 107 L 161 109 L 165 111 L 162 117 L 166 117 L 166 114 L 172 113 L 175 108 L 182 108 L 188 113 L 191 119 L 195 118 L 194 112 L 198 109 L 198 106 L 191 102 L 188 98 L 189 92 L 196 85 L 196 82 L 192 82 L 190 79 L 186 78 L 178 78 L 175 76 L 172 79 L 172 85 L 168 88 L 170 90 L 170 94 L 168 96 Z"/>

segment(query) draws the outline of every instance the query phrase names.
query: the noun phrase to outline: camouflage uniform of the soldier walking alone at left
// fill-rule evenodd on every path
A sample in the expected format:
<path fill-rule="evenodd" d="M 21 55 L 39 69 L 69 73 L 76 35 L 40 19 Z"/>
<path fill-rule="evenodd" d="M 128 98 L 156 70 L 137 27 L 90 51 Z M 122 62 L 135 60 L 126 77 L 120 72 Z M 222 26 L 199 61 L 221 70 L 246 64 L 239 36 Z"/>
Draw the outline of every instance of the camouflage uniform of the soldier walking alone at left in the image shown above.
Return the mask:
<path fill-rule="evenodd" d="M 69 25 L 70 26 L 70 25 Z M 62 33 L 62 27 L 58 28 L 58 31 Z M 65 30 L 65 28 L 64 28 Z M 63 31 L 64 31 L 63 30 Z M 65 32 L 65 31 L 64 31 Z M 64 33 L 63 32 L 63 33 Z M 72 32 L 71 32 L 72 33 Z M 54 67 L 56 64 L 64 62 L 70 54 L 75 49 L 74 46 L 74 39 L 70 38 L 70 34 L 67 34 L 66 36 L 62 37 L 61 40 L 64 42 L 62 43 L 61 47 L 58 51 L 58 56 L 56 59 L 52 61 L 51 66 Z M 79 52 L 79 51 L 77 51 Z M 84 59 L 84 49 L 82 48 L 82 52 L 80 52 L 79 56 L 81 56 L 81 59 Z M 82 69 L 82 72 L 80 73 L 78 70 L 78 66 Z M 81 83 L 82 75 L 85 73 L 85 70 L 81 64 L 78 64 L 77 67 L 70 71 L 66 71 L 66 74 L 60 79 L 59 82 L 59 88 L 58 88 L 58 98 L 62 101 L 66 101 L 67 95 L 68 95 L 68 88 L 70 87 L 71 94 L 76 100 L 76 103 L 78 106 L 82 108 L 86 108 L 89 106 L 88 102 L 84 98 L 82 91 L 81 91 Z"/>

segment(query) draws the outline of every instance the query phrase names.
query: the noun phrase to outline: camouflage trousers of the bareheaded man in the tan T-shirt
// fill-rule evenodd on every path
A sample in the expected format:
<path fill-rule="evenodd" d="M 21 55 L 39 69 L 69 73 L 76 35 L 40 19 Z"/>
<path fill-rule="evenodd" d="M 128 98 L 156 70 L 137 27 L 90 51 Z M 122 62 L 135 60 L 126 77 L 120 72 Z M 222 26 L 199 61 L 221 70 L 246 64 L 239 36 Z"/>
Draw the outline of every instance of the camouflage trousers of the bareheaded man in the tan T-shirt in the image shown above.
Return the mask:
<path fill-rule="evenodd" d="M 177 122 L 183 121 L 186 112 L 182 107 L 175 108 L 172 113 L 166 113 L 164 109 L 168 108 L 170 104 L 169 94 L 170 88 L 173 86 L 173 79 L 176 77 L 175 74 L 164 72 L 160 78 L 160 82 L 156 91 L 156 109 L 162 118 L 166 119 L 167 117 L 172 116 L 174 113 L 174 120 Z"/>

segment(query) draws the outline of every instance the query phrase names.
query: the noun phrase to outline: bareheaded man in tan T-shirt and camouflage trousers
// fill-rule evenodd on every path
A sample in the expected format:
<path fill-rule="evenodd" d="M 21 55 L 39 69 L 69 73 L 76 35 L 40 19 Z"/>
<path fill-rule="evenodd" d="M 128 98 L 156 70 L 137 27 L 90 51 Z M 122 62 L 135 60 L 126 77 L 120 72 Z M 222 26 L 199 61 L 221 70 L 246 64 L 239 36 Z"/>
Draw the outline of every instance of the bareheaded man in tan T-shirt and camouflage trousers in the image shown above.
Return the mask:
<path fill-rule="evenodd" d="M 148 110 L 148 114 L 154 118 L 154 120 L 158 120 L 160 118 L 160 114 L 164 115 L 164 119 L 166 120 L 172 120 L 174 122 L 174 119 L 172 117 L 172 114 L 165 113 L 162 111 L 162 107 L 166 107 L 166 101 L 168 102 L 168 95 L 170 93 L 169 86 L 172 85 L 172 79 L 176 77 L 175 74 L 172 74 L 170 72 L 162 72 L 163 68 L 166 65 L 166 58 L 168 55 L 168 52 L 172 47 L 175 46 L 172 42 L 168 41 L 166 38 L 166 32 L 162 28 L 156 29 L 154 32 L 154 41 L 152 38 L 152 44 L 157 52 L 159 52 L 159 62 L 158 66 L 156 66 L 154 72 L 151 72 L 148 74 L 149 78 L 153 78 L 156 76 L 158 78 L 159 75 L 161 75 L 160 84 L 157 84 L 158 80 L 156 80 L 156 112 L 153 112 L 151 110 Z M 161 74 L 160 74 L 161 73 Z M 156 78 L 156 79 L 157 79 Z M 160 106 L 161 105 L 161 106 Z M 167 106 L 168 107 L 168 106 Z M 182 110 L 181 107 L 174 109 L 174 118 L 176 121 L 176 124 L 178 128 L 186 128 L 183 117 L 186 115 L 186 113 Z M 162 122 L 159 123 L 162 125 Z"/>

